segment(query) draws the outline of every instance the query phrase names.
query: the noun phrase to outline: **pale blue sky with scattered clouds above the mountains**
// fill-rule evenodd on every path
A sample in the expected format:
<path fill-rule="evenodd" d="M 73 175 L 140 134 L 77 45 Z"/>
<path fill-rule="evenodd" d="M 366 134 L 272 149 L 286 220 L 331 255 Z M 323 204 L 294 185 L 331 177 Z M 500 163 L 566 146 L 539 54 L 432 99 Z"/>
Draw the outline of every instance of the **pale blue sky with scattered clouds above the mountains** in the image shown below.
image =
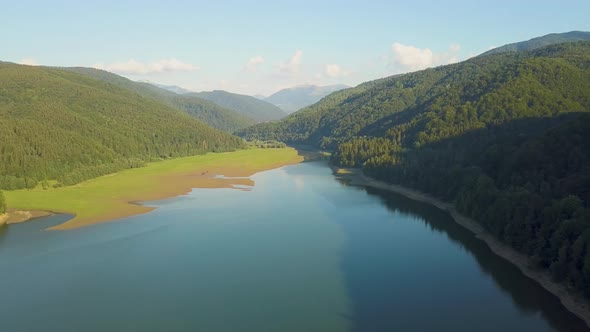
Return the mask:
<path fill-rule="evenodd" d="M 588 0 L 0 0 L 0 8 L 0 61 L 249 95 L 355 86 L 590 31 Z"/>

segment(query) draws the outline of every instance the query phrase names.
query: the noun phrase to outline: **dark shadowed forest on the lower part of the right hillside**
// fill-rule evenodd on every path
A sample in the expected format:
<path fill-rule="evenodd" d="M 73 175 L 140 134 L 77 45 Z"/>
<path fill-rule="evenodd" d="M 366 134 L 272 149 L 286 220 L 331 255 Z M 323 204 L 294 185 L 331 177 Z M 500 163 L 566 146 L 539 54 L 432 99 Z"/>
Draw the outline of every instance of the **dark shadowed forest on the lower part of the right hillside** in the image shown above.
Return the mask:
<path fill-rule="evenodd" d="M 590 114 L 491 126 L 375 154 L 363 171 L 453 202 L 590 296 Z"/>

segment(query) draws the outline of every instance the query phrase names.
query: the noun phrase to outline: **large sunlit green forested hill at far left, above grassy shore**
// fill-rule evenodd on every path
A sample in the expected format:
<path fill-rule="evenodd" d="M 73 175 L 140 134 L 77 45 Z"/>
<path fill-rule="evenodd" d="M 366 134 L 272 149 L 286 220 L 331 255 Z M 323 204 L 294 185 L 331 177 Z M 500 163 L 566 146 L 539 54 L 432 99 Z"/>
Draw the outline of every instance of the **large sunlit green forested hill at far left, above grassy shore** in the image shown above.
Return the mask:
<path fill-rule="evenodd" d="M 173 107 L 76 70 L 1 63 L 0 86 L 2 189 L 70 185 L 154 159 L 243 147 Z"/>

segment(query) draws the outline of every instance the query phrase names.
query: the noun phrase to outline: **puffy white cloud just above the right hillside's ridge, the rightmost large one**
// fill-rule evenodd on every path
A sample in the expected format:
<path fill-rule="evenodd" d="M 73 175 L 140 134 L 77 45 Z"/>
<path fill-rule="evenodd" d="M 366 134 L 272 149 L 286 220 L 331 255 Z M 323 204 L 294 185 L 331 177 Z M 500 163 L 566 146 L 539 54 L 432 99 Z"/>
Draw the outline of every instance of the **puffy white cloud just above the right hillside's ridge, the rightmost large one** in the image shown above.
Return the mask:
<path fill-rule="evenodd" d="M 434 53 L 429 48 L 393 43 L 391 62 L 401 72 L 416 71 L 433 66 L 447 65 L 459 60 L 457 53 L 461 45 L 453 44 L 447 52 Z"/>

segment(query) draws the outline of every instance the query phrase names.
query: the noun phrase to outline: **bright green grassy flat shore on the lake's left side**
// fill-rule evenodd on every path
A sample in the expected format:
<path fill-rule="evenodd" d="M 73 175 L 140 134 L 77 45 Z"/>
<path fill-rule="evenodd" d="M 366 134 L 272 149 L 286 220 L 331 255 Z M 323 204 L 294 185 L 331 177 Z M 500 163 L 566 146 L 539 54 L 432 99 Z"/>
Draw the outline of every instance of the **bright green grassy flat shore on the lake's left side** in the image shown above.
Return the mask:
<path fill-rule="evenodd" d="M 50 228 L 66 230 L 147 213 L 154 208 L 137 202 L 184 195 L 193 188 L 254 186 L 251 175 L 302 160 L 291 148 L 209 153 L 153 162 L 74 186 L 4 194 L 12 210 L 73 214 L 71 220 Z"/>

